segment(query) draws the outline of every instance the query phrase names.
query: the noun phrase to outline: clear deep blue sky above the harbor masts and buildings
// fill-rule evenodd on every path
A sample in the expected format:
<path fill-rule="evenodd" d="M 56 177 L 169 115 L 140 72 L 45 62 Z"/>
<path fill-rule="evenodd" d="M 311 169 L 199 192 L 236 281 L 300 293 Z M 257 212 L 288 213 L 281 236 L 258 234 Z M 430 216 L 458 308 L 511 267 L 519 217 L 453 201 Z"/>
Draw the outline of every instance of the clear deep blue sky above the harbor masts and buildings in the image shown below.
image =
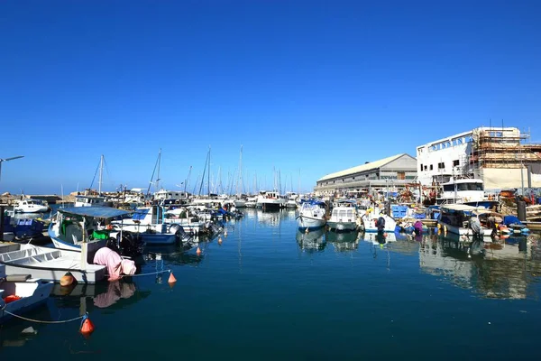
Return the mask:
<path fill-rule="evenodd" d="M 311 190 L 333 171 L 475 126 L 541 143 L 538 1 L 4 1 L 0 192 Z M 286 177 L 288 178 L 286 180 Z"/>

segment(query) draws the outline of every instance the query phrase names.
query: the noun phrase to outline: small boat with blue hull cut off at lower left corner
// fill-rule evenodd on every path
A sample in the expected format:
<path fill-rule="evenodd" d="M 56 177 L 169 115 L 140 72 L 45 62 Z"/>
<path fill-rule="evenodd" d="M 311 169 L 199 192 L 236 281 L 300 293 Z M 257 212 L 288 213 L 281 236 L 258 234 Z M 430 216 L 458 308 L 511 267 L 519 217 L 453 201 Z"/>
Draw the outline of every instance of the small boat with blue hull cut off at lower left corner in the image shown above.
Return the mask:
<path fill-rule="evenodd" d="M 12 313 L 22 316 L 47 301 L 53 285 L 31 274 L 7 275 L 5 264 L 0 264 L 0 324 L 14 317 Z"/>

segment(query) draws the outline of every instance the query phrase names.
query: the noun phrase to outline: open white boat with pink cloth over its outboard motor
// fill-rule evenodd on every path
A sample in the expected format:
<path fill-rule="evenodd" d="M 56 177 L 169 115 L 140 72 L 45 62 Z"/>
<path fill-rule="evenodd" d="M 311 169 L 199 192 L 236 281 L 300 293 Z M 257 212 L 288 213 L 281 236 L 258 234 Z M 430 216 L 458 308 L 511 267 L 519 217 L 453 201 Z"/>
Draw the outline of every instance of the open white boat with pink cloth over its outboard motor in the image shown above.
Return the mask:
<path fill-rule="evenodd" d="M 76 252 L 28 244 L 3 245 L 0 264 L 5 265 L 7 275 L 30 273 L 34 278 L 52 282 L 60 282 L 66 273 L 71 273 L 77 282 L 94 283 L 104 279 L 106 271 L 103 265 L 88 264 L 86 249 Z"/>

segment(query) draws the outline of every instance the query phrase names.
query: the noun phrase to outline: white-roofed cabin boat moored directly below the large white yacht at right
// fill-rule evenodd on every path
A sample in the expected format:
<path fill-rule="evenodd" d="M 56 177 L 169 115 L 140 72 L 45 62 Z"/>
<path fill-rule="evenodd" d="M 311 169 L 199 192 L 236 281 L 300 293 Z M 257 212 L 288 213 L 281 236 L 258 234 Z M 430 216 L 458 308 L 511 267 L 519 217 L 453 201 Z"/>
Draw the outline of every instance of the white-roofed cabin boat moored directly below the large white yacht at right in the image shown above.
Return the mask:
<path fill-rule="evenodd" d="M 490 210 L 465 204 L 447 204 L 440 207 L 437 223 L 444 232 L 459 236 L 491 236 L 492 229 L 482 227 L 477 218 L 486 212 L 490 212 Z"/>

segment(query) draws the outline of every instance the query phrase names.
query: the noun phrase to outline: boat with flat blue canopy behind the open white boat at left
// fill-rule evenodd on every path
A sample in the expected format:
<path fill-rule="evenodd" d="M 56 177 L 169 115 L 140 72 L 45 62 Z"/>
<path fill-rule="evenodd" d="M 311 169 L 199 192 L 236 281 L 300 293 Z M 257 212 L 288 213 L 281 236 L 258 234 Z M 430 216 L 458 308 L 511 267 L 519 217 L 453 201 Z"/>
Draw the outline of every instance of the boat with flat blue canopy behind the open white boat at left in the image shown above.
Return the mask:
<path fill-rule="evenodd" d="M 50 222 L 50 240 L 56 248 L 77 252 L 85 242 L 88 252 L 93 253 L 105 246 L 109 238 L 118 236 L 119 229 L 106 227 L 105 223 L 129 214 L 123 209 L 109 207 L 59 208 Z"/>

